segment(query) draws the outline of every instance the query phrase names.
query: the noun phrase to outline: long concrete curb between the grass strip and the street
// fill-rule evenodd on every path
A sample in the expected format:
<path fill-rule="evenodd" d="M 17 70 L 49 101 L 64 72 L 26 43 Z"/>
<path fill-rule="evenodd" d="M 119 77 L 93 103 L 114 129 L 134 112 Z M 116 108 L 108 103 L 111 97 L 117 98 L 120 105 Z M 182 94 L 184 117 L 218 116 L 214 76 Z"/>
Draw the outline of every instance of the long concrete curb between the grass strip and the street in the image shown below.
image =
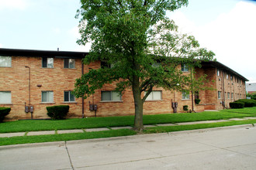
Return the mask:
<path fill-rule="evenodd" d="M 45 146 L 65 146 L 66 143 L 69 145 L 74 144 L 80 144 L 83 143 L 91 143 L 96 141 L 116 141 L 116 140 L 126 140 L 128 138 L 138 138 L 143 137 L 145 135 L 147 136 L 162 136 L 162 135 L 170 135 L 170 134 L 191 134 L 191 133 L 203 133 L 207 131 L 220 131 L 220 130 L 227 130 L 227 129 L 237 129 L 237 128 L 254 128 L 256 124 L 241 124 L 241 125 L 234 125 L 234 126 L 226 126 L 226 127 L 218 127 L 218 128 L 203 128 L 203 129 L 195 129 L 195 130 L 189 130 L 189 131 L 173 131 L 173 132 L 165 132 L 165 133 L 159 133 L 159 134 L 136 134 L 136 135 L 130 135 L 130 136 L 119 136 L 119 137 L 110 137 L 110 138 L 95 138 L 95 139 L 81 139 L 81 140 L 74 140 L 74 141 L 50 141 L 50 142 L 42 142 L 42 143 L 32 143 L 32 144 L 19 144 L 19 145 L 4 145 L 0 146 L 0 151 L 3 149 L 15 149 L 15 148 L 31 148 L 31 147 L 45 147 Z"/>

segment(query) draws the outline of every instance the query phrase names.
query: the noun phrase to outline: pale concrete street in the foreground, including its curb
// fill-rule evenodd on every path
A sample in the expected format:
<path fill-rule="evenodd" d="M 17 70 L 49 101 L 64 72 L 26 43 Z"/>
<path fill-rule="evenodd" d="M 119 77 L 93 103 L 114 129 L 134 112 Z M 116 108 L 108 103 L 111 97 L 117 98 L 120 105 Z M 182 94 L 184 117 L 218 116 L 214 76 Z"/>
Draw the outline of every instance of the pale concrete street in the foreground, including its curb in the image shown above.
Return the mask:
<path fill-rule="evenodd" d="M 256 128 L 2 146 L 0 169 L 256 169 Z"/>

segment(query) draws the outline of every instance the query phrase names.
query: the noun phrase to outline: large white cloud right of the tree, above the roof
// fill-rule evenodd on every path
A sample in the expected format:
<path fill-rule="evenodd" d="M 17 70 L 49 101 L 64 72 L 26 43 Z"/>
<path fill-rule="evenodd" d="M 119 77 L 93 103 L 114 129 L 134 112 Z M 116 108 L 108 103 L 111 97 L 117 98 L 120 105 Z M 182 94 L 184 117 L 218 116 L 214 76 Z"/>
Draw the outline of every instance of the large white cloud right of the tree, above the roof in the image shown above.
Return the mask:
<path fill-rule="evenodd" d="M 204 26 L 195 26 L 182 12 L 177 13 L 174 20 L 182 26 L 182 32 L 192 33 L 202 47 L 213 50 L 218 61 L 248 79 L 256 80 L 255 16 L 256 5 L 238 2 L 230 12 Z"/>

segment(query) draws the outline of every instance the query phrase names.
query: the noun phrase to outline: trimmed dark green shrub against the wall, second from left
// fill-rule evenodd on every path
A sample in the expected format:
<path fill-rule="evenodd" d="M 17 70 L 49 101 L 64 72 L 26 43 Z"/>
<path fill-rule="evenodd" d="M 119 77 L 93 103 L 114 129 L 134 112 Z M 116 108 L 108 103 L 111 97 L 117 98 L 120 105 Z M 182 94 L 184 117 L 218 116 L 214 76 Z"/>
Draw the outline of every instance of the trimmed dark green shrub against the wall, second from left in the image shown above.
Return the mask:
<path fill-rule="evenodd" d="M 68 105 L 47 107 L 47 115 L 53 120 L 61 120 L 67 116 L 68 110 Z"/>

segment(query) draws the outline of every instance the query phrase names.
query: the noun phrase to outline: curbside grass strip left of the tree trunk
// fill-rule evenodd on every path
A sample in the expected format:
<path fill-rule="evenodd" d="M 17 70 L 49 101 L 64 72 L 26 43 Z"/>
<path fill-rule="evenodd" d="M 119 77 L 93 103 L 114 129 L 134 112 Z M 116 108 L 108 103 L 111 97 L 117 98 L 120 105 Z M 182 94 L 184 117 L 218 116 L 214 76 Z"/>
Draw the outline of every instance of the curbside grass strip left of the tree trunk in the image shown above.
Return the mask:
<path fill-rule="evenodd" d="M 85 133 L 73 133 L 73 134 L 46 134 L 36 136 L 17 136 L 11 138 L 0 138 L 0 145 L 17 145 L 17 144 L 30 144 L 49 141 L 71 141 L 81 139 L 92 138 L 110 138 L 117 136 L 128 136 L 137 134 L 130 129 L 119 129 L 110 131 L 94 131 Z"/>

